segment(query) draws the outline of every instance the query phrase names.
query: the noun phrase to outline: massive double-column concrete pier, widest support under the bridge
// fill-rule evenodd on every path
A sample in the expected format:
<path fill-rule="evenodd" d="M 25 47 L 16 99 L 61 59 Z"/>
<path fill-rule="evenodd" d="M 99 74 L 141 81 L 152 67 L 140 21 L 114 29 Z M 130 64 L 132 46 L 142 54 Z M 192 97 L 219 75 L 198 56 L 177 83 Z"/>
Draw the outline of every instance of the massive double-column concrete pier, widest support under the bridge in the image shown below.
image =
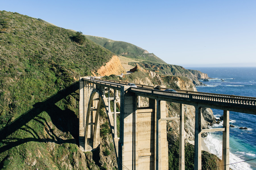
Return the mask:
<path fill-rule="evenodd" d="M 166 102 L 149 99 L 138 107 L 138 97 L 121 89 L 119 169 L 167 170 Z M 160 123 L 158 123 L 160 122 Z"/>

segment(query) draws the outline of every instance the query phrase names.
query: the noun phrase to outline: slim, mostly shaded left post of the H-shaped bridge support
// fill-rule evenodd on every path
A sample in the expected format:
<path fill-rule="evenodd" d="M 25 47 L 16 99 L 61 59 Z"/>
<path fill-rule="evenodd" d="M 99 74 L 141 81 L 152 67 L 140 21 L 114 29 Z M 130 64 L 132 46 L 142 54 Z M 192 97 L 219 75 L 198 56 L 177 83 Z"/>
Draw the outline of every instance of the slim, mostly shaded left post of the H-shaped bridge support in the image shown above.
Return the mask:
<path fill-rule="evenodd" d="M 194 170 L 202 169 L 201 107 L 195 106 L 195 159 Z"/>

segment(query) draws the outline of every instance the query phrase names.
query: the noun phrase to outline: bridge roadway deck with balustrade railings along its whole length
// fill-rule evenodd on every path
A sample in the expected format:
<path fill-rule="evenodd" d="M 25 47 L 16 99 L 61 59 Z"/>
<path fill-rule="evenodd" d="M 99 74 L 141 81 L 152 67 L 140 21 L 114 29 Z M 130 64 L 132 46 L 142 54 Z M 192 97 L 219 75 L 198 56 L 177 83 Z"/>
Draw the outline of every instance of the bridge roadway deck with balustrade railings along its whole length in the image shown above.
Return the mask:
<path fill-rule="evenodd" d="M 121 86 L 125 86 L 128 84 L 128 82 L 104 79 L 90 80 L 84 78 L 84 80 L 115 89 L 120 89 Z M 153 86 L 147 86 L 142 84 L 136 85 L 138 87 L 131 87 L 130 91 L 136 93 L 137 95 L 148 98 L 157 98 L 160 100 L 172 101 L 176 103 L 183 103 L 194 106 L 200 104 L 201 107 L 209 107 L 212 109 L 222 109 L 234 112 L 256 114 L 255 97 L 193 92 L 187 90 L 177 90 L 178 92 L 166 92 L 162 91 L 166 88 L 154 90 Z"/>

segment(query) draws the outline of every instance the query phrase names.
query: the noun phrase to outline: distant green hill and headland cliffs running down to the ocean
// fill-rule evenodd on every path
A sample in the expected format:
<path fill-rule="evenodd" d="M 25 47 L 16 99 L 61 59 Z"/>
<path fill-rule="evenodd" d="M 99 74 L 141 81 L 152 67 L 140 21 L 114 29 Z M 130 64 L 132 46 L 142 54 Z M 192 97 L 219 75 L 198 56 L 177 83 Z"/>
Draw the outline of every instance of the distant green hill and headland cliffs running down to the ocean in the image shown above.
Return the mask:
<path fill-rule="evenodd" d="M 144 69 L 156 72 L 160 75 L 188 77 L 195 85 L 203 85 L 198 79 L 209 78 L 207 74 L 200 71 L 187 70 L 179 65 L 167 64 L 153 53 L 150 54 L 147 50 L 128 42 L 114 41 L 91 35 L 85 35 L 85 37 L 118 55 L 126 70 L 130 70 L 138 64 L 144 67 Z"/>

